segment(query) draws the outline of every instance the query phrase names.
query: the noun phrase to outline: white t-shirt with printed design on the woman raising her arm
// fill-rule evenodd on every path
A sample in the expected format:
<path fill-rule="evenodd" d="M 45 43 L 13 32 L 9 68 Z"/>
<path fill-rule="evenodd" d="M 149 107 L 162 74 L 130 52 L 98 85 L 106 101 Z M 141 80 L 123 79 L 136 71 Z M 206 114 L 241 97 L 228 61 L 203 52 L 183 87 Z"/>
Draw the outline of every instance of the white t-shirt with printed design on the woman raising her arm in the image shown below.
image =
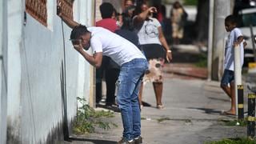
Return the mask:
<path fill-rule="evenodd" d="M 138 31 L 138 42 L 140 45 L 145 44 L 159 44 L 158 27 L 161 24 L 156 18 L 150 18 L 150 20 L 144 21 L 142 28 Z"/>

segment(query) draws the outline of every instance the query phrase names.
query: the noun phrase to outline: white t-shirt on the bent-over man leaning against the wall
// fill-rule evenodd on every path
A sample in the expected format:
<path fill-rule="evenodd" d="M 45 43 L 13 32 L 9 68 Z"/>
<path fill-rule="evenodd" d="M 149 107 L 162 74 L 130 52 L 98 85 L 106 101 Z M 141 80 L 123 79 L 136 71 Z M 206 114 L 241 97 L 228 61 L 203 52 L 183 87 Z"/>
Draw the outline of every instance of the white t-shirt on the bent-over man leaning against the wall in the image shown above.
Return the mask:
<path fill-rule="evenodd" d="M 93 53 L 102 52 L 119 66 L 134 58 L 145 58 L 137 46 L 110 30 L 94 26 L 88 27 L 88 30 L 91 32 L 90 46 Z"/>

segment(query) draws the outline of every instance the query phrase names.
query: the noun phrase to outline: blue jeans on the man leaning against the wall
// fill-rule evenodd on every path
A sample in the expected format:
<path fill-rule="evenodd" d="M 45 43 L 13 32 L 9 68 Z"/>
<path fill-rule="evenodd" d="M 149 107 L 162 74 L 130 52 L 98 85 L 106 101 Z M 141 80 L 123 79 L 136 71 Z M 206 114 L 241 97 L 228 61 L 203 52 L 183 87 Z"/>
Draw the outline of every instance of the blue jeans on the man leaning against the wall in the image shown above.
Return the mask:
<path fill-rule="evenodd" d="M 148 68 L 146 59 L 137 58 L 121 66 L 118 77 L 118 106 L 122 114 L 122 137 L 130 141 L 141 135 L 141 114 L 138 92 L 143 74 Z"/>

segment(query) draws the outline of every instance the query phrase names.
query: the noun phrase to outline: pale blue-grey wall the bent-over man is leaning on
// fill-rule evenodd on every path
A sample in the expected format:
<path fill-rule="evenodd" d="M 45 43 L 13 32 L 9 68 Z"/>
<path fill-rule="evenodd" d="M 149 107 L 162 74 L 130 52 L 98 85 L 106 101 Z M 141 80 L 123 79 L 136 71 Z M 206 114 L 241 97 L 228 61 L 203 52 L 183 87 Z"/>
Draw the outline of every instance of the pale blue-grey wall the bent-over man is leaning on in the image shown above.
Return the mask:
<path fill-rule="evenodd" d="M 71 46 L 71 29 L 65 23 L 62 38 L 56 1 L 47 2 L 50 25 L 30 14 L 26 14 L 23 25 L 25 0 L 8 1 L 9 143 L 58 143 L 76 115 L 76 98 L 89 99 L 92 95 L 92 68 Z M 92 7 L 94 1 L 83 9 L 92 14 Z M 74 4 L 78 21 L 81 12 L 81 7 Z M 91 18 L 86 16 L 83 21 L 91 22 Z"/>

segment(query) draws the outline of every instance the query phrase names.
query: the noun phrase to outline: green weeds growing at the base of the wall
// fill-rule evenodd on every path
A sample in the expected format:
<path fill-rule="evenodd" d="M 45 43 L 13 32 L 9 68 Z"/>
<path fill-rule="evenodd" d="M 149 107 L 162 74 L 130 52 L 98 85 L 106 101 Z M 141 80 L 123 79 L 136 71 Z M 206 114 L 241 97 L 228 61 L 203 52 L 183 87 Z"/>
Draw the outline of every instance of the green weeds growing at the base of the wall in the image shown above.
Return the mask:
<path fill-rule="evenodd" d="M 104 110 L 95 111 L 90 106 L 86 105 L 84 98 L 78 98 L 78 102 L 82 103 L 82 107 L 78 108 L 77 118 L 74 122 L 73 130 L 75 134 L 93 133 L 96 127 L 103 130 L 109 130 L 110 126 L 117 127 L 114 123 L 102 121 L 102 118 L 113 118 L 113 112 Z"/>

